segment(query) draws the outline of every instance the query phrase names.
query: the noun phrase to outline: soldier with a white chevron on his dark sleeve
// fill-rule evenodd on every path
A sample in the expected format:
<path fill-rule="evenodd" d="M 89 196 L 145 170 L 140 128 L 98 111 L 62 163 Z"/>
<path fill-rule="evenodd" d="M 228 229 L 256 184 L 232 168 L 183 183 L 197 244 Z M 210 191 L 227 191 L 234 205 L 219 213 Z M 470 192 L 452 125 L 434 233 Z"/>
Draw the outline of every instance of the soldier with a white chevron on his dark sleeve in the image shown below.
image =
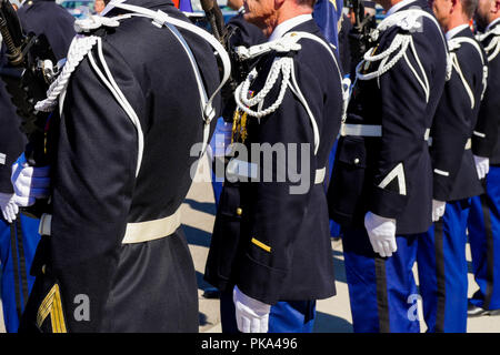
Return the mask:
<path fill-rule="evenodd" d="M 419 332 L 411 267 L 417 234 L 432 223 L 427 138 L 447 43 L 427 1 L 379 3 L 387 18 L 358 65 L 328 199 L 342 225 L 354 332 Z"/>

